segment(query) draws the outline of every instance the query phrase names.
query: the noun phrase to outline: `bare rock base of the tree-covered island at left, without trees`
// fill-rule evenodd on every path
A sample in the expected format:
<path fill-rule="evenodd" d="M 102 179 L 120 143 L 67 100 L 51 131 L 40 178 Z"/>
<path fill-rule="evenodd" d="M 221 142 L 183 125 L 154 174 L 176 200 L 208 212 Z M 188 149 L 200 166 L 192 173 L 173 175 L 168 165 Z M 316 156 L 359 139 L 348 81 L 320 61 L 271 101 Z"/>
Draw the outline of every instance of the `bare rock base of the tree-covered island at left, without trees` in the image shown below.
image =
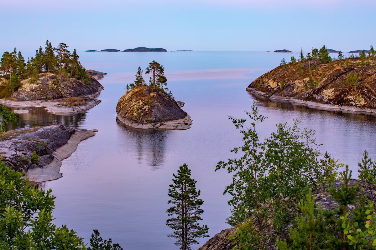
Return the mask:
<path fill-rule="evenodd" d="M 53 73 L 40 73 L 38 80 L 21 81 L 21 87 L 0 103 L 11 107 L 44 107 L 50 113 L 72 113 L 96 106 L 103 86 L 98 82 L 106 73 L 87 70 L 88 84 Z"/>

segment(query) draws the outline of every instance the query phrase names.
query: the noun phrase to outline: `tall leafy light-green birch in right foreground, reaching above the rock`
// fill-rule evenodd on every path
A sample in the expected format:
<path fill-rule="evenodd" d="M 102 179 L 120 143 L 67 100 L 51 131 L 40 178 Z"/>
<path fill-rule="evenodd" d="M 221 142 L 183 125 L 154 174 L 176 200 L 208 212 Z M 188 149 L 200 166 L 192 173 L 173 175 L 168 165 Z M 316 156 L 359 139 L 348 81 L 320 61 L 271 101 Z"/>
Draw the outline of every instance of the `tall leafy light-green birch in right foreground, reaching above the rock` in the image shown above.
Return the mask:
<path fill-rule="evenodd" d="M 265 117 L 258 115 L 255 103 L 252 112 L 246 114 L 249 125 L 247 119 L 229 117 L 244 141 L 243 146 L 232 152 L 244 155 L 218 162 L 216 167 L 216 171 L 224 168 L 233 174 L 232 183 L 224 190 L 224 194 L 232 196 L 228 202 L 232 206 L 231 216 L 227 221 L 236 225 L 252 217 L 259 232 L 272 220 L 274 229 L 282 232 L 292 219 L 289 211 L 296 204 L 294 197 L 304 194 L 308 187 L 315 187 L 316 180 L 323 178 L 314 132 L 308 129 L 301 132 L 299 121 L 294 121 L 292 127 L 280 123 L 276 132 L 260 142 L 256 124 Z M 270 204 L 274 211 L 265 204 Z M 261 242 L 262 235 L 258 237 Z"/>

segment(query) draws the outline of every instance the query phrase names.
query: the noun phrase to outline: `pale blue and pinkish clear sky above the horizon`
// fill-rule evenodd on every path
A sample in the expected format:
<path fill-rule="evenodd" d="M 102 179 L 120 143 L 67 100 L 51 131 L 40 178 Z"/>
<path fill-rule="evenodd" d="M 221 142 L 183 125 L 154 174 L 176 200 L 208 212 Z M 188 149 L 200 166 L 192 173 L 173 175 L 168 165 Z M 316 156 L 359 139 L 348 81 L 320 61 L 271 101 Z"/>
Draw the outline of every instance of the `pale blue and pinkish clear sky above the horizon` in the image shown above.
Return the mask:
<path fill-rule="evenodd" d="M 0 0 L 0 52 L 49 40 L 77 51 L 347 52 L 376 46 L 375 0 Z"/>

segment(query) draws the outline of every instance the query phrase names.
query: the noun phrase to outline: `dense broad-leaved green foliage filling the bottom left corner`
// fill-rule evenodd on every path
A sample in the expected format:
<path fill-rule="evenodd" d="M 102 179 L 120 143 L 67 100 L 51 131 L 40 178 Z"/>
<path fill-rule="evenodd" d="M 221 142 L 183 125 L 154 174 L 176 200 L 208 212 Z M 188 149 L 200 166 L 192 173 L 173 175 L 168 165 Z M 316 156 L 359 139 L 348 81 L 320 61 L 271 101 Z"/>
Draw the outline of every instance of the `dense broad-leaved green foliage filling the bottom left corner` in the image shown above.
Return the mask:
<path fill-rule="evenodd" d="M 67 226 L 52 224 L 51 189 L 31 186 L 0 161 L 0 249 L 85 249 Z"/>

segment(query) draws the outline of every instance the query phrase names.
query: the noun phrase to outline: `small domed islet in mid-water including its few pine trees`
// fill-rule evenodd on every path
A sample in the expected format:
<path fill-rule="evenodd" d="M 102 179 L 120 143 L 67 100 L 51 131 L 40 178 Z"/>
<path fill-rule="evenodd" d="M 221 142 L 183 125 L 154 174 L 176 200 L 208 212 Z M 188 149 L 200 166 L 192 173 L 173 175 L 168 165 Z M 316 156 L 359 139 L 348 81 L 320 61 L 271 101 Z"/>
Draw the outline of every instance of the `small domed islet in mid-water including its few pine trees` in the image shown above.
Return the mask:
<path fill-rule="evenodd" d="M 176 102 L 166 87 L 164 67 L 151 61 L 145 73 L 151 74 L 149 85 L 138 67 L 135 82 L 127 85 L 127 93 L 116 106 L 117 119 L 138 129 L 189 129 L 191 117 L 180 108 L 184 103 Z"/>

